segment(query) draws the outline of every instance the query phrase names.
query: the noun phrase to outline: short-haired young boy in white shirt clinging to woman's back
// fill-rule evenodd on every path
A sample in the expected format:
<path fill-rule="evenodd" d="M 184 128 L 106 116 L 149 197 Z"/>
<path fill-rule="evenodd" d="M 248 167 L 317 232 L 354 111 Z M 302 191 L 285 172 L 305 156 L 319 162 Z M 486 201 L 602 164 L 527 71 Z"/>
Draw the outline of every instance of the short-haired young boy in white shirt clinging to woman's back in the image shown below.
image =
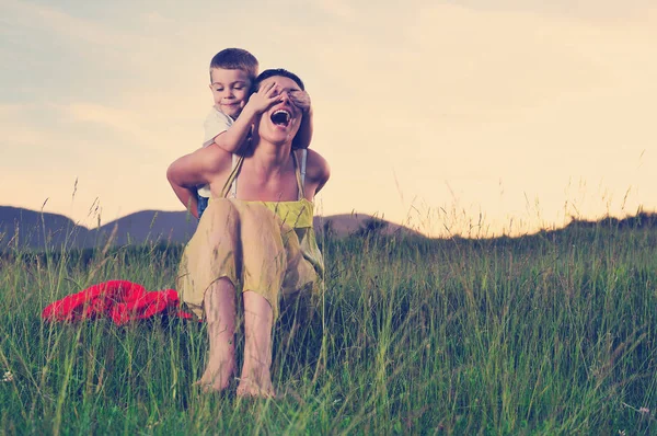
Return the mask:
<path fill-rule="evenodd" d="M 276 83 L 251 93 L 258 73 L 255 56 L 241 48 L 226 48 L 210 61 L 210 90 L 215 103 L 206 117 L 203 147 L 217 145 L 228 152 L 237 153 L 247 142 L 255 118 L 280 100 Z M 295 148 L 308 148 L 312 139 L 312 108 L 307 92 L 290 95 L 292 103 L 303 111 L 303 122 L 293 141 Z M 197 187 L 197 207 L 192 214 L 200 219 L 208 205 L 210 191 L 207 185 Z"/>

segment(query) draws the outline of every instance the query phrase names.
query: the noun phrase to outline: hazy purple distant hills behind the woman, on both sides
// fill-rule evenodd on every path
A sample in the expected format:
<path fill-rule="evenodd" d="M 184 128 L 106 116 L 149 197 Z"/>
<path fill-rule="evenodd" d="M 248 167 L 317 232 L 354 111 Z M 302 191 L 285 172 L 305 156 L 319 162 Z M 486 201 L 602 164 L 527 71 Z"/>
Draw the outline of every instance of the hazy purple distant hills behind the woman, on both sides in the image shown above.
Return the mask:
<path fill-rule="evenodd" d="M 403 226 L 367 214 L 315 217 L 314 227 L 318 233 L 328 231 L 335 237 L 359 231 L 420 236 Z M 8 245 L 39 250 L 45 246 L 45 242 L 51 248 L 66 244 L 82 249 L 104 245 L 110 239 L 113 245 L 158 241 L 184 243 L 195 230 L 196 219 L 185 211 L 142 210 L 97 229 L 89 229 L 76 225 L 62 215 L 0 206 L 0 250 Z"/>

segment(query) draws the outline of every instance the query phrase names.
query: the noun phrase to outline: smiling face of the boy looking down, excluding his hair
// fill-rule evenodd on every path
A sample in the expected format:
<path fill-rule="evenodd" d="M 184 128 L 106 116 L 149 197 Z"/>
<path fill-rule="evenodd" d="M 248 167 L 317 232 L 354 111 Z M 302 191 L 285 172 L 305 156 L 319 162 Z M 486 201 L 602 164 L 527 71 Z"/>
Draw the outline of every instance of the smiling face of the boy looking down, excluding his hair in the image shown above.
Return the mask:
<path fill-rule="evenodd" d="M 237 118 L 249 101 L 251 80 L 242 70 L 212 68 L 210 90 L 217 107 L 226 115 Z"/>

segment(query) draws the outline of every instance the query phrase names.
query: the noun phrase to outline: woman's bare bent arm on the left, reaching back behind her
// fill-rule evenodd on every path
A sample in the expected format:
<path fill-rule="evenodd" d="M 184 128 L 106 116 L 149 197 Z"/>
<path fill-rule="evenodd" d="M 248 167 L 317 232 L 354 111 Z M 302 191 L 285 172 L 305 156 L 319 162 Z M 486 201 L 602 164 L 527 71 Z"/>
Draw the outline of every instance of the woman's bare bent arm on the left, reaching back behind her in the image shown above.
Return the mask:
<path fill-rule="evenodd" d="M 166 170 L 166 179 L 181 203 L 198 218 L 196 186 L 209 183 L 231 156 L 212 146 L 176 159 Z"/>

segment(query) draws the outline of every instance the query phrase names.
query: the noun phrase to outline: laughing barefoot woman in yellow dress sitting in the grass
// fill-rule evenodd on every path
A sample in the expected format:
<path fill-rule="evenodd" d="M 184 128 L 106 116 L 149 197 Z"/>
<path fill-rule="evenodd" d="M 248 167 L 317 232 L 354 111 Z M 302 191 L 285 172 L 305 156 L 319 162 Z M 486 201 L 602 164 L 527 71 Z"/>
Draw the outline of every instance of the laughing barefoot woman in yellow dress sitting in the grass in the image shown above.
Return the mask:
<path fill-rule="evenodd" d="M 226 389 L 235 370 L 235 287 L 242 285 L 244 363 L 239 395 L 270 397 L 272 330 L 279 300 L 320 288 L 323 260 L 312 228 L 312 200 L 328 180 L 326 161 L 313 150 L 292 150 L 303 111 L 293 73 L 266 70 L 255 87 L 274 84 L 280 99 L 255 121 L 243 156 L 217 146 L 176 160 L 169 181 L 196 210 L 195 187 L 212 197 L 185 248 L 177 289 L 208 322 L 209 360 L 199 383 Z"/>

